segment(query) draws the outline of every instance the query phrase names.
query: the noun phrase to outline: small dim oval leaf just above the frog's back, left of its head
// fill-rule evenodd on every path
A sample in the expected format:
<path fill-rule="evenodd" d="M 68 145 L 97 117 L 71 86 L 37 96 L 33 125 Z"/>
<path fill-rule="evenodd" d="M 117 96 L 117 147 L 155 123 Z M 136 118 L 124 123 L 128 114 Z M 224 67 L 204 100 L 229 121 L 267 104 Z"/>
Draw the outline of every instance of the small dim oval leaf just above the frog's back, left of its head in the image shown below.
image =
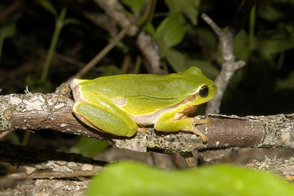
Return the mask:
<path fill-rule="evenodd" d="M 175 72 L 181 72 L 188 69 L 185 56 L 179 51 L 171 48 L 168 51 L 166 58 Z"/>

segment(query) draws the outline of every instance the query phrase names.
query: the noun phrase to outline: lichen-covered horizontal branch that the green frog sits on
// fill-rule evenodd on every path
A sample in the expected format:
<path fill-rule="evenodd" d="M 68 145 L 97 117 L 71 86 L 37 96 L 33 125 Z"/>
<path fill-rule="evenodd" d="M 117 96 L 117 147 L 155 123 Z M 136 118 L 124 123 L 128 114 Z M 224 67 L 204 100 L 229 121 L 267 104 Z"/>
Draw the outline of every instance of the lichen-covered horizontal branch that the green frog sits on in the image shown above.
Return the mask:
<path fill-rule="evenodd" d="M 208 141 L 190 133 L 164 133 L 153 128 L 131 138 L 101 133 L 81 124 L 72 113 L 67 84 L 55 93 L 0 96 L 0 131 L 51 129 L 106 140 L 120 148 L 165 153 L 224 148 L 294 148 L 294 114 L 272 116 L 209 115 L 209 125 L 198 125 Z"/>

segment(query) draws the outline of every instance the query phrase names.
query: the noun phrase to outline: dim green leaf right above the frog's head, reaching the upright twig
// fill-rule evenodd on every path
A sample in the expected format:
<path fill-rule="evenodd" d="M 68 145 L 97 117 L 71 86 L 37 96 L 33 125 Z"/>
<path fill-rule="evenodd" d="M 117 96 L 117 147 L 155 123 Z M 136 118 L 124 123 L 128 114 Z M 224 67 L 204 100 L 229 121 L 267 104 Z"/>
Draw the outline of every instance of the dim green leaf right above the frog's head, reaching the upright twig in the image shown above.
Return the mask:
<path fill-rule="evenodd" d="M 186 65 L 200 68 L 203 74 L 211 80 L 214 80 L 220 73 L 218 68 L 206 60 L 186 58 Z"/>

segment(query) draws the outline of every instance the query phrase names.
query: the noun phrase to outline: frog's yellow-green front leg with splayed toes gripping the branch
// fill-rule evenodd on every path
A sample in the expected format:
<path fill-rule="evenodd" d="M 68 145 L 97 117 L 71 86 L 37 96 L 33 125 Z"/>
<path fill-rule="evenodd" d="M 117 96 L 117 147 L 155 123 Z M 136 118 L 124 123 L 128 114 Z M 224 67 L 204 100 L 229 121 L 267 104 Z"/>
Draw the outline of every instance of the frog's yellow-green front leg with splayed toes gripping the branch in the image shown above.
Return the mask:
<path fill-rule="evenodd" d="M 195 124 L 208 124 L 209 119 L 195 119 L 184 116 L 180 112 L 164 112 L 162 113 L 156 123 L 154 124 L 154 129 L 163 132 L 176 132 L 176 131 L 188 131 L 199 135 L 203 142 L 207 141 L 205 133 L 198 130 Z"/>

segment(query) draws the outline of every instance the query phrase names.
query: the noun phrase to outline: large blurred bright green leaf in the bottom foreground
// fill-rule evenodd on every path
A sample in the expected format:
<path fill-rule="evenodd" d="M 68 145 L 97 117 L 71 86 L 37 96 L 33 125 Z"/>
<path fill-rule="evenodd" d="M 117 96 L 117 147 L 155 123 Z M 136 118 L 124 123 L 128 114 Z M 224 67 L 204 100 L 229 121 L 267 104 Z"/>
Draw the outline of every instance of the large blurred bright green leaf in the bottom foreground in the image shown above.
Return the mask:
<path fill-rule="evenodd" d="M 108 165 L 96 175 L 86 196 L 293 196 L 293 193 L 291 184 L 273 174 L 234 166 L 167 171 L 120 162 Z"/>

